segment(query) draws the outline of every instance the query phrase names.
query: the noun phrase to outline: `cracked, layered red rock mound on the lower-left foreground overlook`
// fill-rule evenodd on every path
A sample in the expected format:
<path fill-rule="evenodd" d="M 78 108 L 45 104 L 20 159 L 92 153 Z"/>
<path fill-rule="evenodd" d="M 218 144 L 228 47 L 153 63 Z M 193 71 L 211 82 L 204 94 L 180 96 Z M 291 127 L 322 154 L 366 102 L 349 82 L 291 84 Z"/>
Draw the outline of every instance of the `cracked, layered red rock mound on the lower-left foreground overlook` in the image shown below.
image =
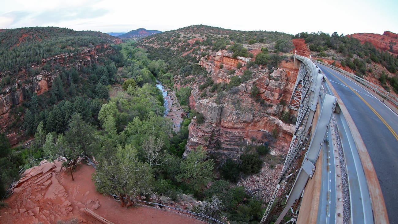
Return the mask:
<path fill-rule="evenodd" d="M 65 188 L 56 178 L 62 162 L 44 162 L 25 171 L 18 182 L 10 207 L 18 211 L 17 217 L 25 223 L 54 223 L 61 217 L 72 215 L 72 203 Z"/>

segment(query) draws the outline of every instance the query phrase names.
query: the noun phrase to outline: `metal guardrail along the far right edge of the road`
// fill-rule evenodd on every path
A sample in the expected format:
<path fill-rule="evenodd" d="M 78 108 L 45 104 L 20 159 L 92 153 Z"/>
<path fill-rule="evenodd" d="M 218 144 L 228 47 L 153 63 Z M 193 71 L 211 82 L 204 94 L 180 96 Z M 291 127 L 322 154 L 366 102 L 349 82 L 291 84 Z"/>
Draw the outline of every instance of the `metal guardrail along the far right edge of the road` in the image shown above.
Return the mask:
<path fill-rule="evenodd" d="M 316 63 L 320 63 L 322 65 L 328 66 L 336 71 L 339 71 L 340 73 L 343 73 L 344 75 L 347 75 L 348 77 L 351 77 L 352 79 L 354 79 L 355 81 L 363 84 L 364 86 L 370 88 L 371 90 L 375 91 L 377 94 L 379 94 L 381 97 L 385 98 L 386 100 L 389 100 L 390 102 L 392 102 L 396 107 L 398 107 L 398 98 L 396 98 L 393 95 L 390 95 L 389 92 L 387 92 L 384 88 L 380 88 L 379 86 L 375 85 L 374 83 L 371 83 L 357 75 L 354 75 L 352 73 L 349 73 L 343 69 L 340 69 L 336 66 L 333 65 L 329 65 L 327 63 L 324 63 L 322 61 L 318 61 L 318 60 L 314 60 L 311 59 L 312 61 L 316 62 Z"/>

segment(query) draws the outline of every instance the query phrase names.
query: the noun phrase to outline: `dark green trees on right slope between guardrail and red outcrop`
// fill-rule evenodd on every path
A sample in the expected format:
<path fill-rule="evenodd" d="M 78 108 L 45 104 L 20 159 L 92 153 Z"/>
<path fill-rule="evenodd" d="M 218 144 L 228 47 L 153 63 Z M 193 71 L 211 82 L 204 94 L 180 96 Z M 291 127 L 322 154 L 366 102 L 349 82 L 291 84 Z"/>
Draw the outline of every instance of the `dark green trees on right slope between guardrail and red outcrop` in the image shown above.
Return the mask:
<path fill-rule="evenodd" d="M 325 51 L 333 49 L 345 57 L 341 60 L 342 66 L 347 66 L 359 77 L 363 77 L 367 73 L 372 73 L 372 63 L 379 63 L 385 67 L 393 75 L 390 77 L 382 77 L 382 74 L 377 74 L 376 77 L 380 77 L 380 82 L 384 84 L 384 88 L 389 91 L 389 87 L 386 86 L 385 81 L 387 80 L 392 86 L 394 92 L 398 93 L 398 57 L 392 55 L 388 51 L 380 51 L 369 42 L 361 44 L 359 39 L 353 37 L 347 37 L 338 35 L 337 32 L 329 35 L 328 33 L 297 33 L 295 37 L 305 39 L 305 43 L 309 44 L 310 50 L 318 52 L 320 57 L 328 56 Z M 385 75 L 385 73 L 384 73 Z"/>

